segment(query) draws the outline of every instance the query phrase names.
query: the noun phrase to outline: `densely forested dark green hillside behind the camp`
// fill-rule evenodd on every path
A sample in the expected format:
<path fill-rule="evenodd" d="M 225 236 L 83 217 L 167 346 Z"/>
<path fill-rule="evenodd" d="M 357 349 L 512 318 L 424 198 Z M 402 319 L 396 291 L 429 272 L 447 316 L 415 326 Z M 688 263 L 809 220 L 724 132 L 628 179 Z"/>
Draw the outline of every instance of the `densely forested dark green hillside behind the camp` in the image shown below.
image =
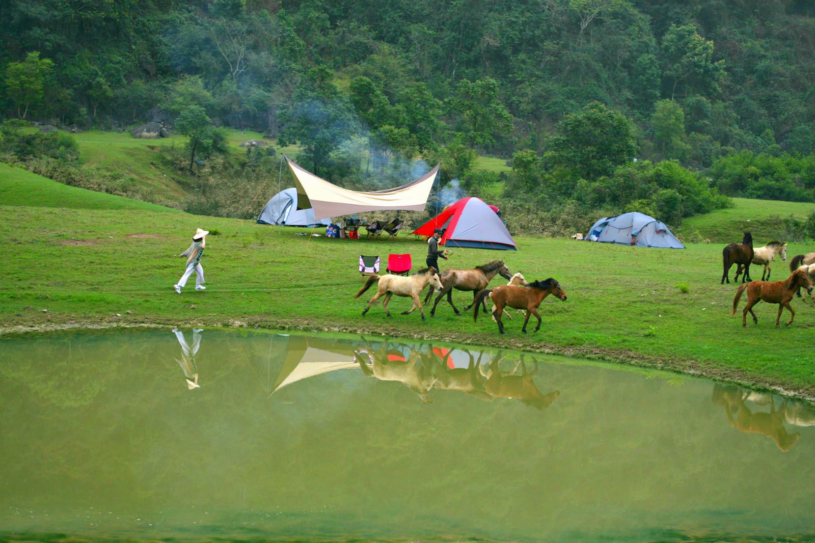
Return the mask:
<path fill-rule="evenodd" d="M 815 200 L 813 2 L 17 0 L 0 24 L 3 117 L 160 121 L 191 174 L 230 126 L 348 186 L 423 157 L 543 211 Z"/>

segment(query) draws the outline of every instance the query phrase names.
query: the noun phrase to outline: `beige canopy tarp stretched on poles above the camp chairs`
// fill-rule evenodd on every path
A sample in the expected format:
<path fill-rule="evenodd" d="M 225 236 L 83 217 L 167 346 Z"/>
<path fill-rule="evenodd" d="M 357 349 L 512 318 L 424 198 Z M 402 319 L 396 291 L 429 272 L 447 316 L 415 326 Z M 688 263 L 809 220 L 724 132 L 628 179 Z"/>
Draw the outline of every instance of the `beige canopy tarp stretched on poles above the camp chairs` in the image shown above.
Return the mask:
<path fill-rule="evenodd" d="M 337 187 L 297 166 L 286 157 L 289 170 L 297 188 L 297 209 L 313 208 L 317 217 L 337 217 L 362 211 L 409 210 L 423 211 L 438 174 L 437 164 L 433 170 L 419 179 L 377 192 L 357 192 Z"/>

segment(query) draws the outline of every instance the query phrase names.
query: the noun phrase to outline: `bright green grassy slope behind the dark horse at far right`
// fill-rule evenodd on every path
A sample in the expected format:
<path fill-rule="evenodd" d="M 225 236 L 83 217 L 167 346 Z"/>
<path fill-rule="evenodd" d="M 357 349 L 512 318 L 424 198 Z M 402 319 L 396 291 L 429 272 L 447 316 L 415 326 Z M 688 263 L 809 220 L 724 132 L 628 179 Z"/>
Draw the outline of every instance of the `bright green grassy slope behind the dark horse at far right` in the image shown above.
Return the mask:
<path fill-rule="evenodd" d="M 786 241 L 782 219 L 804 219 L 815 211 L 815 203 L 799 201 L 751 200 L 734 198 L 735 206 L 726 210 L 689 217 L 682 222 L 680 232 L 689 235 L 698 231 L 703 239 L 738 243 L 743 232 L 751 232 L 756 245 L 768 241 Z"/>

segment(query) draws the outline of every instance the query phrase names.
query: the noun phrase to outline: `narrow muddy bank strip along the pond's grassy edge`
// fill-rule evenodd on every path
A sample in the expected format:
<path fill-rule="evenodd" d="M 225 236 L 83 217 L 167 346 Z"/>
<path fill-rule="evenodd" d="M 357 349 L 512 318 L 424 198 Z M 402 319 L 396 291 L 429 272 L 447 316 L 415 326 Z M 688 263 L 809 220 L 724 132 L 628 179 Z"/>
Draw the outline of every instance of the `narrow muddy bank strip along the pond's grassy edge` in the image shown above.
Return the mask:
<path fill-rule="evenodd" d="M 0 335 L 9 333 L 39 333 L 67 329 L 109 329 L 109 328 L 138 328 L 138 327 L 218 327 L 218 328 L 253 328 L 253 329 L 280 329 L 297 330 L 301 332 L 341 332 L 360 334 L 358 325 L 343 325 L 318 322 L 307 318 L 280 318 L 272 316 L 244 316 L 241 318 L 200 318 L 183 322 L 166 317 L 135 316 L 127 314 L 114 314 L 111 316 L 65 316 L 55 313 L 42 313 L 33 319 L 29 317 L 26 322 L 11 322 L 0 324 Z M 734 385 L 747 386 L 753 389 L 773 391 L 780 395 L 808 401 L 815 404 L 815 386 L 791 386 L 789 383 L 753 377 L 736 369 L 723 369 L 711 367 L 709 364 L 693 359 L 678 359 L 672 357 L 646 356 L 631 351 L 604 349 L 599 347 L 570 347 L 550 342 L 536 342 L 533 345 L 519 341 L 516 338 L 480 333 L 466 333 L 456 331 L 428 330 L 427 332 L 409 332 L 395 326 L 370 325 L 364 331 L 365 335 L 382 335 L 394 338 L 412 338 L 423 341 L 442 341 L 448 343 L 461 343 L 471 346 L 499 347 L 517 351 L 536 352 L 547 355 L 562 355 L 573 358 L 584 358 L 615 364 L 628 364 L 641 368 L 661 369 L 674 373 L 684 373 L 694 377 L 706 377 L 716 381 L 729 382 Z"/>

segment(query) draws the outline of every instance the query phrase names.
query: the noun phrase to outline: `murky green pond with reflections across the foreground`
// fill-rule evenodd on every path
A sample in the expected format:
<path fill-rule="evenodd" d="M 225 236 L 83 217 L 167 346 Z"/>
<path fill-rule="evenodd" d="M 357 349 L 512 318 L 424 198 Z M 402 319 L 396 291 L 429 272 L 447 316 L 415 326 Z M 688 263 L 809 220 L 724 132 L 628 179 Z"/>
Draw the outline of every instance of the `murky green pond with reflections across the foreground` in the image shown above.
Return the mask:
<path fill-rule="evenodd" d="M 0 540 L 815 538 L 815 413 L 385 338 L 0 339 Z"/>

